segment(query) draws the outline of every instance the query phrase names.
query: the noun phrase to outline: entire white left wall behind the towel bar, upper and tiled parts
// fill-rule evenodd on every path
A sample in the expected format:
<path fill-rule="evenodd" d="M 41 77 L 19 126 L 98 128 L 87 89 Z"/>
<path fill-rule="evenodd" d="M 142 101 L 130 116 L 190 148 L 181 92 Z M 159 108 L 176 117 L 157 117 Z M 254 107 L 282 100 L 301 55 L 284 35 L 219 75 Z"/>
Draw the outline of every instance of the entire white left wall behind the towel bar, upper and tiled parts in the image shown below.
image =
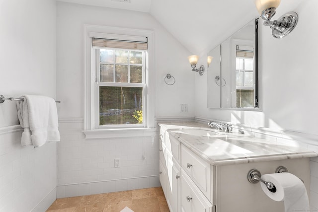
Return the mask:
<path fill-rule="evenodd" d="M 55 98 L 55 0 L 0 1 L 0 94 Z M 45 211 L 56 198 L 56 143 L 21 146 L 15 102 L 0 104 L 0 211 Z"/>

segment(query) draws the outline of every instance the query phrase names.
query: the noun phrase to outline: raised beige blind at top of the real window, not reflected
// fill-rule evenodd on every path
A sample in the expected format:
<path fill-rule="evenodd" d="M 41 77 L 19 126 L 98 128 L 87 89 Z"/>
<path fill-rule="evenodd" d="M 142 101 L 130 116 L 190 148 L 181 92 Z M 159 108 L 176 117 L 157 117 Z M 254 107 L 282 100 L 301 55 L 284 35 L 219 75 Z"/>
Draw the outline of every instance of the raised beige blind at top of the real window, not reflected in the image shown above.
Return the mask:
<path fill-rule="evenodd" d="M 147 39 L 147 38 L 146 38 Z M 104 38 L 92 38 L 93 47 L 107 47 L 107 48 L 119 48 L 119 49 L 134 49 L 134 50 L 147 50 L 147 42 L 140 41 L 123 41 L 112 40 Z"/>

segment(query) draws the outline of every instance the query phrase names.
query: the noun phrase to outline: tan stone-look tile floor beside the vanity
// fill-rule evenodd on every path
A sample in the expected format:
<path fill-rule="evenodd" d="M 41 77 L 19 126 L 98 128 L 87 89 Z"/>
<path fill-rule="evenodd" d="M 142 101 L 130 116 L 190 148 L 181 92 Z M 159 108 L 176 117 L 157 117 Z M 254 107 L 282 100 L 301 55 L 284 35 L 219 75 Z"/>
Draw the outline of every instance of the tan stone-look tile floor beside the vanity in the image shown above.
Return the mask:
<path fill-rule="evenodd" d="M 47 212 L 169 212 L 161 187 L 57 199 Z"/>

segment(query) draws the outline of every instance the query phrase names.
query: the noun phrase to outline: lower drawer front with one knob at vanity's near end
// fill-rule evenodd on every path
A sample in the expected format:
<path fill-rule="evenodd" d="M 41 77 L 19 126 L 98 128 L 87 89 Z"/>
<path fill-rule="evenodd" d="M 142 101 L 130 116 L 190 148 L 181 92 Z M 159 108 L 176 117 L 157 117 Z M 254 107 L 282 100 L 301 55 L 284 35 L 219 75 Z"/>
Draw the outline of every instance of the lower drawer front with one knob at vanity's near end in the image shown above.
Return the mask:
<path fill-rule="evenodd" d="M 212 204 L 181 169 L 181 211 L 211 212 Z"/>

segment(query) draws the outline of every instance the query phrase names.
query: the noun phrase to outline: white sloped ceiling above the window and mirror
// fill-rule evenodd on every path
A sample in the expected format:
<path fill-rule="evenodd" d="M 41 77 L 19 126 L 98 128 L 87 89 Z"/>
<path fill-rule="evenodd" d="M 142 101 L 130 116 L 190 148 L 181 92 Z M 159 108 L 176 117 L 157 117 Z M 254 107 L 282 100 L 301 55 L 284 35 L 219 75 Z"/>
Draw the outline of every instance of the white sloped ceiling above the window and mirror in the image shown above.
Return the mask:
<path fill-rule="evenodd" d="M 253 0 L 60 1 L 148 12 L 192 54 L 212 49 L 258 16 Z"/>

